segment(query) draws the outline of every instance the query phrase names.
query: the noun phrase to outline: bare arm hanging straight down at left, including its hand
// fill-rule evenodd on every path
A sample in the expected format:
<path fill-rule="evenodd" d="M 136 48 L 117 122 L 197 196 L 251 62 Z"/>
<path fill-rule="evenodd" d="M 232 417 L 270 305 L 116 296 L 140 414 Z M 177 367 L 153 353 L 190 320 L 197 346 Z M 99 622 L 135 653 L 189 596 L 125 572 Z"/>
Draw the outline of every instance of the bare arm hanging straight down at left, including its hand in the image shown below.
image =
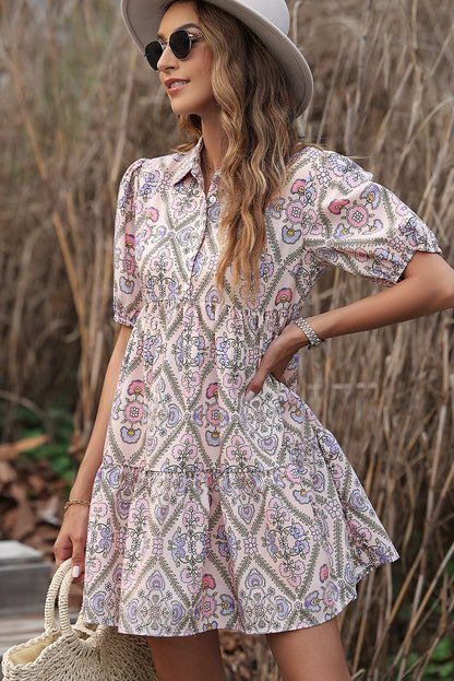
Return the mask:
<path fill-rule="evenodd" d="M 128 341 L 131 336 L 131 327 L 121 326 L 120 333 L 113 348 L 106 376 L 99 407 L 96 415 L 93 433 L 89 438 L 85 456 L 79 468 L 77 477 L 71 489 L 70 498 L 89 501 L 96 472 L 100 466 L 106 439 L 107 425 L 117 388 L 118 376 Z M 73 575 L 82 573 L 86 532 L 88 526 L 88 508 L 82 505 L 70 506 L 63 518 L 61 530 L 53 544 L 57 566 L 65 559 L 72 556 Z M 74 568 L 76 568 L 74 571 Z M 79 568 L 79 573 L 77 573 Z"/>

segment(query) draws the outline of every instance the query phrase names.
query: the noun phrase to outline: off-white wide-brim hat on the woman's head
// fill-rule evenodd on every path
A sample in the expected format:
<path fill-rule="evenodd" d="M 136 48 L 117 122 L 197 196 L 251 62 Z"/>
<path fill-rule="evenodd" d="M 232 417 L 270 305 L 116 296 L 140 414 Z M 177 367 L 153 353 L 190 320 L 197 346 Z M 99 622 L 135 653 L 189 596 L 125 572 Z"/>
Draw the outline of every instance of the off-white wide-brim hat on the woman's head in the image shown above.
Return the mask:
<path fill-rule="evenodd" d="M 205 0 L 250 28 L 283 67 L 292 89 L 298 114 L 313 94 L 312 73 L 298 47 L 288 37 L 290 15 L 285 0 Z M 121 0 L 123 20 L 142 54 L 156 39 L 164 12 L 162 0 Z"/>

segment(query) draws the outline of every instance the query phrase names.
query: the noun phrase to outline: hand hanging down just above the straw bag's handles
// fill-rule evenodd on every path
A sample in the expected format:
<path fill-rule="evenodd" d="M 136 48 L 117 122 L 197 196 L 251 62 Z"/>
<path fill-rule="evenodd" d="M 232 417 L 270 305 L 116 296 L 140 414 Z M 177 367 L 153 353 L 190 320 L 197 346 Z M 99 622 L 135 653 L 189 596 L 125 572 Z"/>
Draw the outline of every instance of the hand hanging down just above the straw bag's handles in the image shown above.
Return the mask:
<path fill-rule="evenodd" d="M 69 506 L 53 544 L 57 567 L 67 559 L 72 559 L 71 570 L 74 582 L 83 579 L 88 514 L 87 506 L 80 504 Z"/>

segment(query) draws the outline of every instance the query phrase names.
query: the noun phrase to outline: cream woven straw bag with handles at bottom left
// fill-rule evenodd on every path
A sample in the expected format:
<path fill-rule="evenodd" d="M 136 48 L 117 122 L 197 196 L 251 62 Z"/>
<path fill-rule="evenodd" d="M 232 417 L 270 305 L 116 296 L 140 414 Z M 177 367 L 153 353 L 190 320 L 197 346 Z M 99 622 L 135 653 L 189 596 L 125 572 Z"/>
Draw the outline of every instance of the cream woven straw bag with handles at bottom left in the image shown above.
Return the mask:
<path fill-rule="evenodd" d="M 3 656 L 4 681 L 158 681 L 143 636 L 119 634 L 112 626 L 71 625 L 68 599 L 71 559 L 50 583 L 45 606 L 45 632 Z M 60 625 L 55 618 L 58 595 Z"/>

